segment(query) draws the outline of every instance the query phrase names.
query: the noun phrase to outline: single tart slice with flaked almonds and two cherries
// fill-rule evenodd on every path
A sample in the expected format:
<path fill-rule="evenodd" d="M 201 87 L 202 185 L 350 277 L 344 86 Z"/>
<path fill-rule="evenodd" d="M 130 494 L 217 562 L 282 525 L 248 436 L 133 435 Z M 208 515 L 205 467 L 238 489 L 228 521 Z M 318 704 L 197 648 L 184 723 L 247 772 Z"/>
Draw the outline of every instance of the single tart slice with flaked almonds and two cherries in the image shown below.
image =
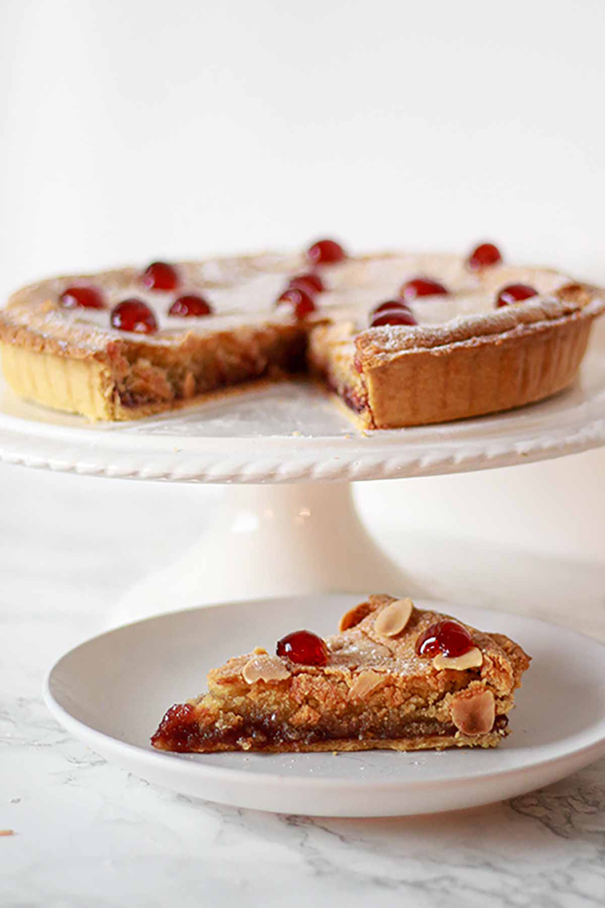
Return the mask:
<path fill-rule="evenodd" d="M 370 596 L 322 639 L 307 630 L 208 676 L 209 693 L 171 706 L 151 744 L 211 753 L 495 747 L 530 664 L 485 634 L 411 599 Z"/>

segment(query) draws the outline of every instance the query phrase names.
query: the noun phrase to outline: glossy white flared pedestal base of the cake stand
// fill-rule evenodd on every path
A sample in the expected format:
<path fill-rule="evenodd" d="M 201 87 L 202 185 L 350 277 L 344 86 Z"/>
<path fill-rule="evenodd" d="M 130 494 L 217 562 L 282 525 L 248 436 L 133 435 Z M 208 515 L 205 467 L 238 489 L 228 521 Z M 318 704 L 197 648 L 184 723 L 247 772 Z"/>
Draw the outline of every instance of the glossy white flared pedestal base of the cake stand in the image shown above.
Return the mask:
<path fill-rule="evenodd" d="M 350 483 L 233 486 L 217 505 L 211 528 L 189 550 L 127 592 L 119 623 L 225 599 L 422 593 L 367 532 Z"/>

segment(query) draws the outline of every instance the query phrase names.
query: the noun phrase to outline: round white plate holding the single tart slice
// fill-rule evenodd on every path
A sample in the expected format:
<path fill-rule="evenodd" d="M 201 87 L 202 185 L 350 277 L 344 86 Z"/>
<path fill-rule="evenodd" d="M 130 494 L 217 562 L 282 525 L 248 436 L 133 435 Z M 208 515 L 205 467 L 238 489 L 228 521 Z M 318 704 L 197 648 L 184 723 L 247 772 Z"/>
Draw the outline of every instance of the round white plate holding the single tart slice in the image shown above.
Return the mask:
<path fill-rule="evenodd" d="M 239 602 L 120 627 L 63 656 L 47 676 L 45 700 L 84 744 L 149 782 L 288 814 L 429 814 L 488 804 L 548 785 L 605 753 L 603 646 L 531 618 L 447 603 L 438 607 L 510 635 L 533 656 L 512 735 L 497 749 L 335 756 L 173 755 L 151 748 L 165 710 L 199 693 L 211 666 L 252 646 L 270 649 L 298 627 L 334 632 L 346 608 L 362 598 Z"/>

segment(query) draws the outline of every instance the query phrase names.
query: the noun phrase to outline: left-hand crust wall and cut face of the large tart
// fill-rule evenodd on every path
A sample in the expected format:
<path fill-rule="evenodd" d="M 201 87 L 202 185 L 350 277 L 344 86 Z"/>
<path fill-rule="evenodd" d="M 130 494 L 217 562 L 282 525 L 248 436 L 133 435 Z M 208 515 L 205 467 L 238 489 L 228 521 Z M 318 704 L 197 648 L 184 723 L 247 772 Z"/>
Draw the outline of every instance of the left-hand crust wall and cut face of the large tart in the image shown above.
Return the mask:
<path fill-rule="evenodd" d="M 252 380 L 281 380 L 300 370 L 306 347 L 297 325 L 268 324 L 204 336 L 186 332 L 166 345 L 111 341 L 93 352 L 65 341 L 65 352 L 57 353 L 57 337 L 11 335 L 2 325 L 0 313 L 0 337 L 8 339 L 0 341 L 2 365 L 11 387 L 28 400 L 93 420 L 141 419 L 235 392 Z"/>

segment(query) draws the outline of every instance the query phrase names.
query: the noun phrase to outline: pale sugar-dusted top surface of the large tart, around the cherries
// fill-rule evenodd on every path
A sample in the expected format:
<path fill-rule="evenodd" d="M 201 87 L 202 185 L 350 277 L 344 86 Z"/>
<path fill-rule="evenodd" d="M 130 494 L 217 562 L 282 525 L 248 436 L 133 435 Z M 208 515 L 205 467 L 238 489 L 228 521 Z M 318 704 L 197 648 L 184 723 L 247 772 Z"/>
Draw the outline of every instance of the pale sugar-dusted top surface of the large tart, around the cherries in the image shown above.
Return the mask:
<path fill-rule="evenodd" d="M 288 309 L 276 309 L 279 294 L 288 277 L 308 269 L 302 254 L 263 253 L 206 262 L 176 265 L 181 283 L 177 291 L 150 291 L 141 283 L 141 271 L 123 268 L 94 275 L 71 275 L 42 281 L 19 291 L 9 301 L 5 318 L 23 324 L 43 338 L 59 345 L 87 351 L 106 348 L 112 340 L 127 339 L 144 345 L 180 344 L 190 332 L 208 334 L 230 331 L 247 325 L 284 323 Z M 349 323 L 349 336 L 364 332 L 376 354 L 388 356 L 394 350 L 414 349 L 427 342 L 432 346 L 450 339 L 452 332 L 468 336 L 469 331 L 487 324 L 489 332 L 509 331 L 520 318 L 536 321 L 565 314 L 573 306 L 551 298 L 571 279 L 546 269 L 499 265 L 471 272 L 460 256 L 384 253 L 351 257 L 337 265 L 318 269 L 327 291 L 317 297 L 317 317 Z M 447 296 L 424 297 L 411 304 L 417 327 L 385 326 L 367 330 L 370 311 L 381 302 L 399 295 L 402 284 L 425 276 L 440 281 Z M 530 283 L 539 295 L 510 309 L 493 309 L 497 291 L 513 281 Z M 90 282 L 107 302 L 105 310 L 64 310 L 58 303 L 70 284 Z M 212 305 L 214 314 L 182 319 L 169 316 L 171 303 L 184 293 L 200 293 Z M 112 329 L 111 308 L 129 297 L 146 302 L 159 323 L 155 335 L 141 336 Z M 512 311 L 512 309 L 514 311 Z M 522 313 L 525 313 L 523 316 Z M 464 329 L 464 331 L 463 331 Z"/>

